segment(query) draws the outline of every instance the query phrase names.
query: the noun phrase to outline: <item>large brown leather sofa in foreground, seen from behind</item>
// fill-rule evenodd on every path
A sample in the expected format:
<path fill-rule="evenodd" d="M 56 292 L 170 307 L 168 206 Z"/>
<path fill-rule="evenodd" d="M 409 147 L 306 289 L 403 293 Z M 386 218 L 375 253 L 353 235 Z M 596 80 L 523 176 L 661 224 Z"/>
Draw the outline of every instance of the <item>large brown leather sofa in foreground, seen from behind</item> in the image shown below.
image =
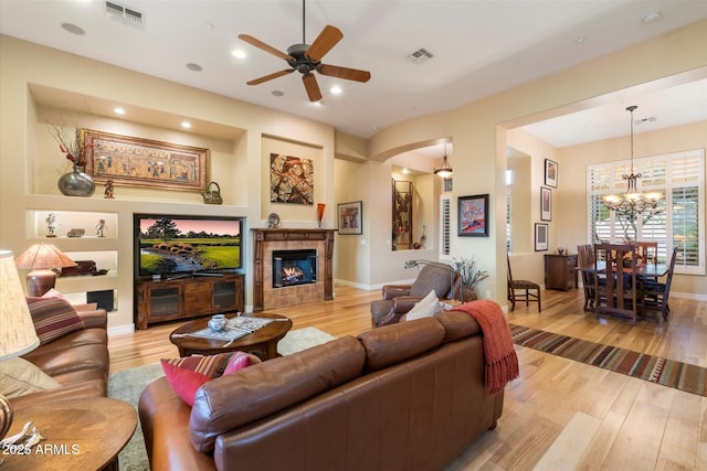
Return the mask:
<path fill-rule="evenodd" d="M 213 379 L 190 408 L 165 377 L 138 405 L 152 471 L 440 470 L 496 427 L 483 336 L 442 312 Z"/>

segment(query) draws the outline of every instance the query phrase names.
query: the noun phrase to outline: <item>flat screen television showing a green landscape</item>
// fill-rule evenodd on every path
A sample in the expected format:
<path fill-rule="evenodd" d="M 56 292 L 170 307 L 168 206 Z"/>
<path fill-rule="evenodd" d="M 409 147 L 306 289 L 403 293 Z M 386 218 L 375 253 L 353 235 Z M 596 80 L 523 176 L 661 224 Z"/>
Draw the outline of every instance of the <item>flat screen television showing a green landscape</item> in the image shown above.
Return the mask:
<path fill-rule="evenodd" d="M 135 214 L 139 277 L 215 275 L 242 267 L 242 217 Z"/>

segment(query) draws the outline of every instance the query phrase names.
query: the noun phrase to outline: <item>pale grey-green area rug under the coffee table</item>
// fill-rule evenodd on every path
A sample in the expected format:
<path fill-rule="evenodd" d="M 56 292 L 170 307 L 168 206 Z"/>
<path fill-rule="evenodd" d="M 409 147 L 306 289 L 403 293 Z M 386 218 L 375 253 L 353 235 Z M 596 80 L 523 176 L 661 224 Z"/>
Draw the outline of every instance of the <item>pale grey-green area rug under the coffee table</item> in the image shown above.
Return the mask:
<path fill-rule="evenodd" d="M 298 329 L 287 332 L 287 335 L 277 342 L 277 352 L 281 355 L 291 355 L 334 339 L 336 339 L 334 335 L 329 335 L 319 329 Z M 159 363 L 114 373 L 108 378 L 108 397 L 125 400 L 137 408 L 137 402 L 143 389 L 161 376 L 165 376 L 165 374 Z M 147 451 L 143 441 L 143 429 L 139 424 L 128 445 L 118 454 L 118 464 L 120 471 L 149 471 Z"/>

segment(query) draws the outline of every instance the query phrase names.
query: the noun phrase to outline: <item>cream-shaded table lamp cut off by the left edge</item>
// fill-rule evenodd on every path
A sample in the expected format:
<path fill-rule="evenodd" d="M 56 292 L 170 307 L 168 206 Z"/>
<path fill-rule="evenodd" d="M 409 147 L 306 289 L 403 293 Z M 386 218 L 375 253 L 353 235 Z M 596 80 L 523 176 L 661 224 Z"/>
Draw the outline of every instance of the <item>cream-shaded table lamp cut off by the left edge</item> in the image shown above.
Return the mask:
<path fill-rule="evenodd" d="M 10 250 L 0 250 L 0 362 L 24 355 L 39 346 L 40 339 Z M 11 425 L 12 407 L 0 394 L 0 439 L 4 438 Z"/>

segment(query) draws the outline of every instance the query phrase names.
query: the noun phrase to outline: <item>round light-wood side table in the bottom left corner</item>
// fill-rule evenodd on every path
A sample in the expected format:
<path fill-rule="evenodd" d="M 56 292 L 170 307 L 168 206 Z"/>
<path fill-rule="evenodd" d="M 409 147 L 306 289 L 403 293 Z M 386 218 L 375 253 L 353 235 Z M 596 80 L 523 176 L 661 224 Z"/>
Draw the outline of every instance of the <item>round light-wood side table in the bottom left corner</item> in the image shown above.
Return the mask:
<path fill-rule="evenodd" d="M 137 411 L 128 403 L 108 397 L 46 403 L 14 410 L 8 437 L 30 420 L 44 440 L 29 454 L 4 454 L 2 471 L 117 471 L 118 453 L 137 427 Z"/>

